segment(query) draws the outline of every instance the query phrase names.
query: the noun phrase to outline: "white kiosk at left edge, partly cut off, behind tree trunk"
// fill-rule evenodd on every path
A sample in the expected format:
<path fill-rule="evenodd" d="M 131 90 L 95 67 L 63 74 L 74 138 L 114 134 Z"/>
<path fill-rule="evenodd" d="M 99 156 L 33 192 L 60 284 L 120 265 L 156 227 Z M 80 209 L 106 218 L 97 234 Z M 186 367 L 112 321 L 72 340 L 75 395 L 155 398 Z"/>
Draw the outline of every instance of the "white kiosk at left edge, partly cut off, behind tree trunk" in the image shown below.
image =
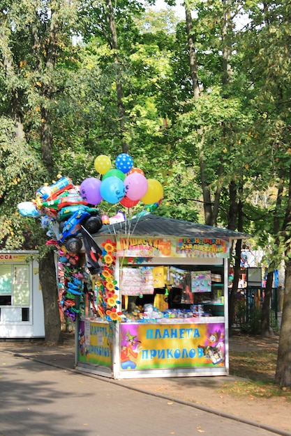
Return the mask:
<path fill-rule="evenodd" d="M 0 251 L 0 340 L 44 338 L 37 251 Z"/>

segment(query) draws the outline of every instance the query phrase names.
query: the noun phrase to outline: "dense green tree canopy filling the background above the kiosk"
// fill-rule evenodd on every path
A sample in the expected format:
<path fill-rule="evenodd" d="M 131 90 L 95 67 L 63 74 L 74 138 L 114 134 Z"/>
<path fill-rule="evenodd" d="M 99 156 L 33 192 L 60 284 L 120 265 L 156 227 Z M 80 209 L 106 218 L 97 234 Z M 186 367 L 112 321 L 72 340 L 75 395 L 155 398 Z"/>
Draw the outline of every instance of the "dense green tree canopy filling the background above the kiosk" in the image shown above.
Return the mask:
<path fill-rule="evenodd" d="M 55 68 L 47 70 L 47 31 L 50 8 L 55 5 L 59 6 L 59 58 Z M 275 251 L 276 241 L 272 245 L 270 235 L 274 215 L 281 222 L 285 216 L 288 192 L 284 191 L 278 209 L 276 187 L 291 163 L 290 111 L 285 104 L 290 96 L 290 30 L 288 20 L 282 18 L 286 14 L 278 14 L 286 4 L 280 3 L 270 13 L 268 26 L 262 25 L 264 17 L 257 3 L 250 2 L 245 5 L 250 13 L 246 28 L 237 32 L 228 23 L 225 42 L 232 47 L 232 81 L 227 89 L 222 84 L 221 59 L 225 6 L 219 1 L 189 5 L 195 10 L 193 40 L 201 91 L 195 102 L 186 25 L 169 8 L 156 13 L 139 2 L 113 5 L 117 70 L 107 21 L 109 2 L 40 2 L 38 9 L 29 0 L 11 3 L 1 21 L 5 36 L 1 59 L 11 62 L 9 80 L 7 71 L 0 69 L 0 112 L 8 111 L 17 90 L 27 144 L 23 149 L 17 146 L 17 159 L 11 146 L 3 160 L 3 198 L 8 188 L 15 207 L 19 198 L 33 198 L 35 190 L 43 182 L 52 182 L 57 173 L 79 184 L 84 177 L 98 176 L 94 169 L 97 155 L 107 154 L 114 160 L 121 152 L 118 77 L 124 91 L 124 137 L 130 154 L 147 177 L 158 178 L 164 185 L 165 198 L 156 213 L 203 221 L 203 162 L 211 197 L 221 189 L 221 224 L 227 226 L 228 187 L 235 182 L 241 187 L 237 201 L 244 204 L 244 229 L 256 233 L 258 243 L 270 246 L 269 256 L 277 253 L 279 258 L 282 249 Z M 231 12 L 237 13 L 239 6 L 231 3 Z M 73 34 L 79 36 L 75 45 Z M 33 40 L 36 36 L 38 45 Z M 50 99 L 44 92 L 47 83 L 54 85 Z M 40 107 L 44 105 L 50 109 L 54 137 L 54 173 L 49 176 L 39 161 Z M 287 187 L 288 177 L 284 177 Z M 266 192 L 271 193 L 263 201 Z"/>

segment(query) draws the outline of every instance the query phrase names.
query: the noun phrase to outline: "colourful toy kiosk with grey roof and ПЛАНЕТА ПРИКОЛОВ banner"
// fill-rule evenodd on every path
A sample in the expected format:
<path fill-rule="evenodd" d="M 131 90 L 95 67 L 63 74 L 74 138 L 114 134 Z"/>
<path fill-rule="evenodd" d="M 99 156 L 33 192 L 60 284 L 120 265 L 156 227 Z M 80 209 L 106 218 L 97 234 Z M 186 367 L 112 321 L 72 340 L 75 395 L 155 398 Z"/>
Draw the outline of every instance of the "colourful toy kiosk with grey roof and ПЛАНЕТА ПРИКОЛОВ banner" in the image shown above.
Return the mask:
<path fill-rule="evenodd" d="M 94 277 L 77 320 L 76 369 L 116 379 L 227 375 L 230 242 L 246 237 L 155 215 L 103 226 L 94 240 L 114 261 Z"/>

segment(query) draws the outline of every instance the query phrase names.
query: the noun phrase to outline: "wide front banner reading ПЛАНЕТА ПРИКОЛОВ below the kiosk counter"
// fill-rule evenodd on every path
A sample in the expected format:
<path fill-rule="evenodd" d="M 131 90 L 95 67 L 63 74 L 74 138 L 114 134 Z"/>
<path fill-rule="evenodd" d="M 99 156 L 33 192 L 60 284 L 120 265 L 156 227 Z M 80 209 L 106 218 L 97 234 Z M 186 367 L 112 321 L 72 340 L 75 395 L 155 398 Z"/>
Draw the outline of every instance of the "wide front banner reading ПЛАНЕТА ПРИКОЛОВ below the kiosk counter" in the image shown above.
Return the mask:
<path fill-rule="evenodd" d="M 122 324 L 121 371 L 225 366 L 225 326 Z"/>

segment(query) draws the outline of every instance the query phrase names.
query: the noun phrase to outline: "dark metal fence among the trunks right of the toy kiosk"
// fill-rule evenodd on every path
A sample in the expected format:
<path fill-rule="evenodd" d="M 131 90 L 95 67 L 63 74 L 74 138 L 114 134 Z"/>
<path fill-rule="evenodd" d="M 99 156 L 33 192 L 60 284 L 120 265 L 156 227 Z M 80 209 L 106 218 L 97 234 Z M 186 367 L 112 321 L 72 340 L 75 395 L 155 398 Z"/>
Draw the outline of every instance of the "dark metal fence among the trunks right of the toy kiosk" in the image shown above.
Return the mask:
<path fill-rule="evenodd" d="M 261 310 L 264 288 L 249 286 L 239 289 L 232 327 L 251 333 L 260 332 Z M 278 290 L 273 288 L 270 302 L 270 326 L 278 328 Z"/>

